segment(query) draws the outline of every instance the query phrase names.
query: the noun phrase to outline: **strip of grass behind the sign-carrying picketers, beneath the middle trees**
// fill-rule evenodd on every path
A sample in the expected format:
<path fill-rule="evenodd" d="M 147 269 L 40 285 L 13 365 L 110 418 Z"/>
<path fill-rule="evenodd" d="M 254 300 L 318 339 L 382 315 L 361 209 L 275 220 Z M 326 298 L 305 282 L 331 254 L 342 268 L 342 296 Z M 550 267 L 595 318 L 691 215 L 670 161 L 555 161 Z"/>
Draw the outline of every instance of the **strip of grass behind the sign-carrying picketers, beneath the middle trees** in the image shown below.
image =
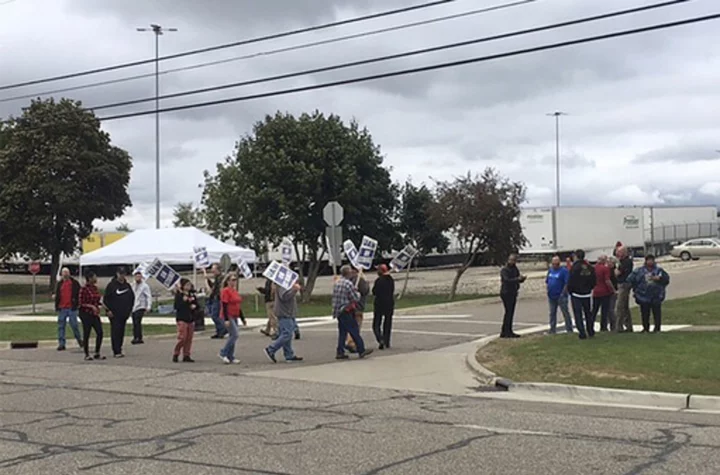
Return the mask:
<path fill-rule="evenodd" d="M 458 295 L 455 298 L 456 302 L 460 302 L 463 300 L 474 300 L 474 299 L 482 299 L 482 298 L 489 298 L 493 297 L 492 295 Z M 330 299 L 331 297 L 329 295 L 318 295 L 314 296 L 310 299 L 310 302 L 308 303 L 300 303 L 298 305 L 300 309 L 300 318 L 303 317 L 325 317 L 330 315 L 332 312 L 332 309 L 330 307 Z M 372 300 L 371 300 L 372 302 Z M 421 307 L 424 305 L 434 305 L 434 304 L 441 304 L 441 303 L 447 303 L 447 295 L 437 295 L 437 294 L 416 294 L 416 295 L 405 295 L 405 297 L 402 298 L 402 300 L 396 302 L 395 308 L 401 309 L 401 308 L 412 308 L 412 307 Z M 170 302 L 162 302 L 163 304 L 169 304 Z M 262 298 L 258 299 L 258 310 L 255 310 L 255 297 L 251 296 L 245 300 L 245 303 L 243 303 L 243 312 L 245 313 L 245 316 L 247 318 L 265 318 L 265 307 L 264 302 Z M 372 303 L 369 303 L 367 306 L 367 309 L 365 310 L 366 313 L 372 313 L 373 311 L 373 305 Z M 23 313 L 23 316 L 31 315 L 29 313 Z M 38 312 L 36 315 L 39 316 L 48 316 L 48 315 L 55 315 L 55 313 L 52 312 Z M 157 315 L 155 313 L 151 313 L 148 316 L 153 317 L 173 317 L 174 315 Z"/>

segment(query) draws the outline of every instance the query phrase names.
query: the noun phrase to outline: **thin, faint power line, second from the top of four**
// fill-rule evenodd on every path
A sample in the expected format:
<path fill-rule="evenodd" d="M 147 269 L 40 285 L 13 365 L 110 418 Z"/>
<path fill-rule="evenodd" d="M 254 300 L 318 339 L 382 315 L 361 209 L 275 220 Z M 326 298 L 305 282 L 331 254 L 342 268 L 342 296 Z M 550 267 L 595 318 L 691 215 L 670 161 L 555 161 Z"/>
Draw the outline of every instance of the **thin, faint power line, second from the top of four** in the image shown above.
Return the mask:
<path fill-rule="evenodd" d="M 209 66 L 217 66 L 219 64 L 227 64 L 227 63 L 232 63 L 235 61 L 241 61 L 241 60 L 245 60 L 245 59 L 253 59 L 253 58 L 258 58 L 258 57 L 263 57 L 263 56 L 272 56 L 272 55 L 276 55 L 276 54 L 280 54 L 280 53 L 288 53 L 291 51 L 299 51 L 299 50 L 303 50 L 303 49 L 307 49 L 307 48 L 314 48 L 317 46 L 325 46 L 325 45 L 329 45 L 329 44 L 340 43 L 343 41 L 375 36 L 375 35 L 379 35 L 382 33 L 389 33 L 389 32 L 393 32 L 393 31 L 405 30 L 405 29 L 414 28 L 417 26 L 430 25 L 433 23 L 440 23 L 443 21 L 455 20 L 458 18 L 466 18 L 466 17 L 473 16 L 473 15 L 479 15 L 482 13 L 489 13 L 489 12 L 496 11 L 496 10 L 503 10 L 506 8 L 526 5 L 529 3 L 534 3 L 536 1 L 537 0 L 514 1 L 514 2 L 510 2 L 510 3 L 495 5 L 492 7 L 485 7 L 485 8 L 479 8 L 476 10 L 470 10 L 467 12 L 456 13 L 453 15 L 446 15 L 446 16 L 442 16 L 442 17 L 430 18 L 428 20 L 415 21 L 415 22 L 411 22 L 411 23 L 403 23 L 401 25 L 391 26 L 388 28 L 380 28 L 380 29 L 376 29 L 376 30 L 362 32 L 362 33 L 355 33 L 352 35 L 339 36 L 336 38 L 329 38 L 327 40 L 313 41 L 313 42 L 303 43 L 303 44 L 295 45 L 295 46 L 287 46 L 284 48 L 276 48 L 276 49 L 267 50 L 267 51 L 260 51 L 257 53 L 251 53 L 251 54 L 246 54 L 246 55 L 242 55 L 242 56 L 234 56 L 232 58 L 219 59 L 219 60 L 215 60 L 215 61 L 207 61 L 207 62 L 203 62 L 203 63 L 192 64 L 192 65 L 183 66 L 180 68 L 166 69 L 164 71 L 160 71 L 159 74 L 165 75 L 165 74 L 172 74 L 172 73 L 177 73 L 177 72 L 181 72 L 181 71 L 191 71 L 191 70 L 195 70 L 195 69 L 206 68 Z M 90 89 L 90 88 L 94 88 L 94 87 L 109 86 L 109 85 L 120 84 L 120 83 L 128 82 L 128 81 L 135 81 L 138 79 L 150 78 L 150 77 L 154 77 L 154 76 L 155 76 L 155 73 L 137 74 L 137 75 L 127 76 L 127 77 L 118 78 L 118 79 L 109 79 L 107 81 L 86 83 L 86 84 L 81 84 L 78 86 L 53 89 L 50 91 L 38 92 L 38 93 L 34 93 L 34 94 L 22 94 L 22 95 L 18 95 L 18 96 L 0 99 L 0 103 L 12 102 L 12 101 L 23 100 L 23 99 L 34 99 L 39 96 L 49 96 L 49 95 L 61 94 L 61 93 L 65 93 L 65 92 L 79 91 L 82 89 Z"/>

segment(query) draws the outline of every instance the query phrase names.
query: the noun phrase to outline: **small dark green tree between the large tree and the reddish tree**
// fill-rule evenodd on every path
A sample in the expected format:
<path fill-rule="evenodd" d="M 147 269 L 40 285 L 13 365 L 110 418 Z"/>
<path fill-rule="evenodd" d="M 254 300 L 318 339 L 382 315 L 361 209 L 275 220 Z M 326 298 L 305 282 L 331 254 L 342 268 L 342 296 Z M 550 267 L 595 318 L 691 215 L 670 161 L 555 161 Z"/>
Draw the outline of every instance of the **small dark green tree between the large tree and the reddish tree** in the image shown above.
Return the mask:
<path fill-rule="evenodd" d="M 399 231 L 405 244 L 411 244 L 418 254 L 408 264 L 405 273 L 405 283 L 398 299 L 407 291 L 408 281 L 413 262 L 431 252 L 446 252 L 450 240 L 443 233 L 442 223 L 432 219 L 433 207 L 436 205 L 432 191 L 423 185 L 415 186 L 409 180 L 402 189 L 401 206 L 399 212 Z"/>

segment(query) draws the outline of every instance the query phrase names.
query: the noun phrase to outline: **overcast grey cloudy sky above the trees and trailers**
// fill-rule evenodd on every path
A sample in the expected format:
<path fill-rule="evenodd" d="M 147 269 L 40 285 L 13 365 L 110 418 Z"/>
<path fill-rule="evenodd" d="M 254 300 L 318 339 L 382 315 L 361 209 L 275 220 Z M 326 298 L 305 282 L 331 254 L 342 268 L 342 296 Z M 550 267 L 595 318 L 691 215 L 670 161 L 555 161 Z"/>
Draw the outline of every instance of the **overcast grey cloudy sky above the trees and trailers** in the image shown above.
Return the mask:
<path fill-rule="evenodd" d="M 0 84 L 36 79 L 153 54 L 151 33 L 176 27 L 161 54 L 247 39 L 423 0 L 15 0 L 0 1 Z M 162 69 L 370 31 L 461 13 L 510 0 L 457 0 L 447 5 L 165 61 Z M 163 75 L 163 93 L 360 60 L 469 40 L 581 16 L 646 5 L 648 0 L 537 0 L 502 11 L 282 54 Z M 720 12 L 717 0 L 693 0 L 654 12 L 475 45 L 351 70 L 324 73 L 185 98 L 201 102 L 471 58 Z M 277 110 L 319 109 L 356 118 L 382 147 L 395 180 L 450 179 L 492 166 L 528 186 L 528 205 L 554 202 L 555 130 L 562 118 L 562 203 L 566 205 L 706 204 L 720 202 L 720 22 L 511 57 L 455 69 L 169 113 L 161 118 L 162 222 L 179 201 L 198 202 L 202 172 L 233 150 L 252 124 Z M 25 94 L 151 73 L 153 65 L 0 91 Z M 145 78 L 65 95 L 97 106 L 151 97 Z M 19 114 L 28 99 L 0 102 L 0 117 Z M 141 111 L 152 103 L 99 111 Z M 154 226 L 153 116 L 110 121 L 104 128 L 133 157 L 132 209 L 121 220 Z M 102 227 L 112 230 L 116 223 Z"/>

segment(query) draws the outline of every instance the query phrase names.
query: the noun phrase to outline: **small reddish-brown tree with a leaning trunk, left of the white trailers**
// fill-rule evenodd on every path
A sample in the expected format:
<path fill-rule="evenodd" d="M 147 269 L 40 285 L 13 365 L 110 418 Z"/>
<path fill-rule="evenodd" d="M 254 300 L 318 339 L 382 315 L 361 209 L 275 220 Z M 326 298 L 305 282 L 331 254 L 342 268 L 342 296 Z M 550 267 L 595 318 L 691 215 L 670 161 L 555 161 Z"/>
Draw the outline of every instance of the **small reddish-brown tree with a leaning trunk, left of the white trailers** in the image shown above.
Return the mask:
<path fill-rule="evenodd" d="M 520 225 L 525 185 L 488 168 L 480 176 L 468 173 L 453 181 L 439 182 L 436 194 L 433 220 L 450 230 L 465 255 L 450 288 L 452 300 L 460 278 L 478 254 L 501 264 L 526 243 Z"/>

